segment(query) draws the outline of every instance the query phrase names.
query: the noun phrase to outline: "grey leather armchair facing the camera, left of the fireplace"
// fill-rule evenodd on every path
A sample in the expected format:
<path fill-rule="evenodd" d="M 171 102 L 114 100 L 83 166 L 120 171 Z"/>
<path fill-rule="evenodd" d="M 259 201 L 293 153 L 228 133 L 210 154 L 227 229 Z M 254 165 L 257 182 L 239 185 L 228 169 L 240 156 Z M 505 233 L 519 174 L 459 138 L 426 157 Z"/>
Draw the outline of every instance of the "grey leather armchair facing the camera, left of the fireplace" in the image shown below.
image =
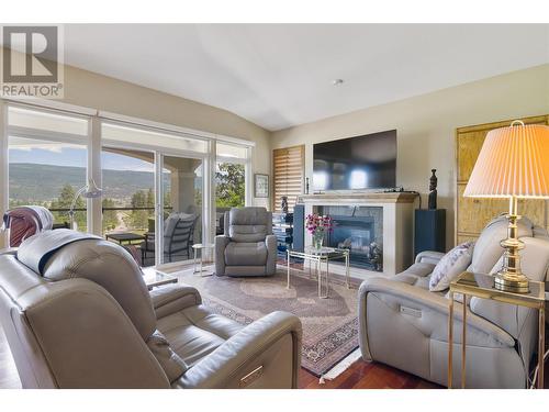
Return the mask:
<path fill-rule="evenodd" d="M 217 276 L 271 276 L 277 271 L 277 236 L 265 208 L 225 212 L 225 233 L 215 236 Z"/>

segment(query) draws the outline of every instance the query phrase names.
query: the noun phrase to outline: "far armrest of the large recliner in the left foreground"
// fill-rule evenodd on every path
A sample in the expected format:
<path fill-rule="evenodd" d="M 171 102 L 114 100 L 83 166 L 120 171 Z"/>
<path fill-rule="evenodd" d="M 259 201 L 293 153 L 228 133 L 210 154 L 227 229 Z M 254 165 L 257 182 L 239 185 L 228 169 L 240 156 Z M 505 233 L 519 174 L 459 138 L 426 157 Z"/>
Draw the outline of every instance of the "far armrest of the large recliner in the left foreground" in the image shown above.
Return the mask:
<path fill-rule="evenodd" d="M 202 303 L 199 291 L 187 285 L 168 285 L 155 288 L 149 293 L 153 308 L 156 312 L 156 319 L 165 318 L 186 308 Z"/>

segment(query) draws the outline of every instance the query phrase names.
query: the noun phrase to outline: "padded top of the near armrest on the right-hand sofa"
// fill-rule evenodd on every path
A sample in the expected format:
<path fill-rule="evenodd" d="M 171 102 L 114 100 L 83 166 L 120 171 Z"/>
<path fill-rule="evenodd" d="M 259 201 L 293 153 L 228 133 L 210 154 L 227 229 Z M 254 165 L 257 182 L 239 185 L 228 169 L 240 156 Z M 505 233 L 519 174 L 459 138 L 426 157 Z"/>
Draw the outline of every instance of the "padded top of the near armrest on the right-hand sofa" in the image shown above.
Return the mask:
<path fill-rule="evenodd" d="M 384 278 L 371 278 L 365 280 L 359 288 L 359 318 L 360 318 L 360 344 L 367 344 L 366 311 L 368 294 L 378 297 L 385 296 L 386 304 L 393 304 L 395 310 L 401 311 L 404 316 L 410 316 L 416 327 L 424 334 L 441 342 L 448 342 L 448 315 L 450 301 L 428 290 L 414 287 L 404 282 L 393 281 Z M 405 308 L 411 314 L 406 314 Z M 463 320 L 462 304 L 453 302 L 453 339 L 461 343 L 461 321 Z M 415 312 L 414 312 L 415 311 Z M 513 337 L 503 329 L 492 322 L 478 316 L 469 309 L 467 310 L 467 324 L 472 330 L 468 334 L 468 343 L 478 346 L 515 345 Z M 369 350 L 368 350 L 369 352 Z"/>

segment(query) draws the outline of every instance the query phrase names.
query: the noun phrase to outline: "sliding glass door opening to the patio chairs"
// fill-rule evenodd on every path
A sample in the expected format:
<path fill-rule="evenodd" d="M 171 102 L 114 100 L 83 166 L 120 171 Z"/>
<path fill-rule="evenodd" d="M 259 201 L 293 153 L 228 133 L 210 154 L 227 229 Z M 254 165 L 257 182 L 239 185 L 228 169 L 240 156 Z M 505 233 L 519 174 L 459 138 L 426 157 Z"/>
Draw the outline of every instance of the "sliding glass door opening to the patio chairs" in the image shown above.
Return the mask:
<path fill-rule="evenodd" d="M 103 235 L 142 266 L 190 259 L 202 242 L 206 145 L 125 124 L 103 123 L 102 134 Z"/>

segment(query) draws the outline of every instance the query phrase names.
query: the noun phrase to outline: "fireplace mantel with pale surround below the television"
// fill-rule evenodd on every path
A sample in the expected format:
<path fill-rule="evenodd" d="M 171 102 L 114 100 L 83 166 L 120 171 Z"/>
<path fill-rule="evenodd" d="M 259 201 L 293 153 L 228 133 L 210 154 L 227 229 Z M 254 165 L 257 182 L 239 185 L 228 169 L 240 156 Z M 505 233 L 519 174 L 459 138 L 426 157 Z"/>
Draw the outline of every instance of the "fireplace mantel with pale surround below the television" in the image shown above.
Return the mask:
<path fill-rule="evenodd" d="M 406 269 L 413 259 L 413 210 L 416 193 L 410 192 L 326 192 L 302 194 L 298 202 L 305 205 L 305 215 L 315 207 L 381 207 L 383 208 L 383 276 L 393 276 Z M 311 236 L 305 235 L 305 245 Z M 354 269 L 351 276 L 365 278 L 366 269 Z M 367 275 L 366 274 L 366 275 Z"/>

